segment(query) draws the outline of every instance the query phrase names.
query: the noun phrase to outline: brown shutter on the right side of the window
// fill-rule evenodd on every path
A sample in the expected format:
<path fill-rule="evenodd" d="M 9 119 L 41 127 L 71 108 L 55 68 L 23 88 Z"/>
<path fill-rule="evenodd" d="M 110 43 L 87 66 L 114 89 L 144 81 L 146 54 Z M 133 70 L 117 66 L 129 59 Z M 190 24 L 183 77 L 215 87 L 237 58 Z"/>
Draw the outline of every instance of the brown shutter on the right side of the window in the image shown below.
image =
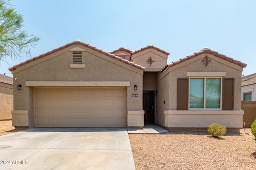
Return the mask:
<path fill-rule="evenodd" d="M 222 79 L 222 110 L 234 109 L 234 78 Z"/>

